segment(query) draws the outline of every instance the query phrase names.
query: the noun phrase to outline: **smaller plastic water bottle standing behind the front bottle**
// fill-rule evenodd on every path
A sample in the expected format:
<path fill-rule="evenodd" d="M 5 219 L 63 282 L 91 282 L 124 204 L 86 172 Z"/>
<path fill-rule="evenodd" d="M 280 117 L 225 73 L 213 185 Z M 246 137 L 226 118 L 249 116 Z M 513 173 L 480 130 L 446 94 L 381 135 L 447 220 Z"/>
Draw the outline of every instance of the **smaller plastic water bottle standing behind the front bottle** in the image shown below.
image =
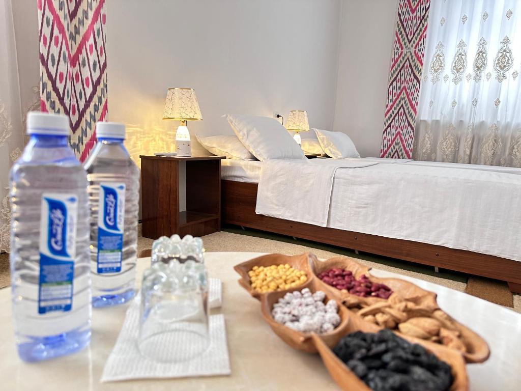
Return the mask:
<path fill-rule="evenodd" d="M 125 125 L 98 122 L 85 162 L 91 209 L 92 306 L 124 303 L 135 294 L 140 171 L 123 145 Z"/>

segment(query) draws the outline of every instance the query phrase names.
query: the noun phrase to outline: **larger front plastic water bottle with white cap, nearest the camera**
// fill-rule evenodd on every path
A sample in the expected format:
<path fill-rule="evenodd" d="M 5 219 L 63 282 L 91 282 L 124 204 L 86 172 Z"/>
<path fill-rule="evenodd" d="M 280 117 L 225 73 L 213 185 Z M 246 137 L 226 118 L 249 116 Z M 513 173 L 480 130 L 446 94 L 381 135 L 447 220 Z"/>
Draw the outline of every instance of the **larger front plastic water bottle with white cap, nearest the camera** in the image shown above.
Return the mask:
<path fill-rule="evenodd" d="M 69 119 L 29 113 L 27 133 L 9 177 L 11 286 L 18 354 L 39 361 L 90 342 L 89 209 Z"/>

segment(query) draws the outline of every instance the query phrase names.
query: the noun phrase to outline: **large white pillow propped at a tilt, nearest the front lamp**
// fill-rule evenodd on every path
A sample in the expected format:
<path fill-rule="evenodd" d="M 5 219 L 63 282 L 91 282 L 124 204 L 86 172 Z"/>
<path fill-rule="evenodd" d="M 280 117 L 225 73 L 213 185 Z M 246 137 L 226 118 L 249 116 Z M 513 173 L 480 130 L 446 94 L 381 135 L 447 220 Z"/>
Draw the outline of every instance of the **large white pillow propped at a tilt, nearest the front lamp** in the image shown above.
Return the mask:
<path fill-rule="evenodd" d="M 276 119 L 231 114 L 226 118 L 235 135 L 258 160 L 306 158 L 300 145 Z"/>

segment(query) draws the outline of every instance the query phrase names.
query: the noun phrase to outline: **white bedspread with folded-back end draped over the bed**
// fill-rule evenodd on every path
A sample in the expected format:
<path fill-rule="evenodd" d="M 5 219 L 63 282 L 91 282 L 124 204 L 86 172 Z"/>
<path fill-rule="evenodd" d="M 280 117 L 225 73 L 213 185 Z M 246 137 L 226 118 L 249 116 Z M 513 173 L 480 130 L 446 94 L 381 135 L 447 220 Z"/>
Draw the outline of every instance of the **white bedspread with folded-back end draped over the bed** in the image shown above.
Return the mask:
<path fill-rule="evenodd" d="M 257 213 L 300 222 L 309 222 L 310 214 L 322 222 L 318 212 L 330 195 L 328 227 L 521 261 L 521 175 L 375 164 L 336 169 L 330 191 L 329 178 L 320 178 L 319 166 L 305 166 L 302 175 L 293 166 L 292 174 L 286 175 L 289 165 L 285 161 L 276 165 L 277 174 L 269 177 L 277 185 L 269 186 L 264 195 L 259 184 L 257 206 L 261 201 L 262 208 Z M 263 167 L 263 174 L 269 169 Z M 271 207 L 272 200 L 276 203 Z"/>

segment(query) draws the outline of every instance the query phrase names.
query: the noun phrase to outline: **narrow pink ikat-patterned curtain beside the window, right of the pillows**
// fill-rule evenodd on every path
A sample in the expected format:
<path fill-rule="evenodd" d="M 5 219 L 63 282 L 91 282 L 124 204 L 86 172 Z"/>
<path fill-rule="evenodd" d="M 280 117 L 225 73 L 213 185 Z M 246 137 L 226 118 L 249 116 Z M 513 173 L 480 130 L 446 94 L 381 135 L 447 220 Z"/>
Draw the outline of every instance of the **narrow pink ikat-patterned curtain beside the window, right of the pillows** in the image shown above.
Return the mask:
<path fill-rule="evenodd" d="M 430 2 L 398 3 L 380 157 L 411 157 Z"/>

